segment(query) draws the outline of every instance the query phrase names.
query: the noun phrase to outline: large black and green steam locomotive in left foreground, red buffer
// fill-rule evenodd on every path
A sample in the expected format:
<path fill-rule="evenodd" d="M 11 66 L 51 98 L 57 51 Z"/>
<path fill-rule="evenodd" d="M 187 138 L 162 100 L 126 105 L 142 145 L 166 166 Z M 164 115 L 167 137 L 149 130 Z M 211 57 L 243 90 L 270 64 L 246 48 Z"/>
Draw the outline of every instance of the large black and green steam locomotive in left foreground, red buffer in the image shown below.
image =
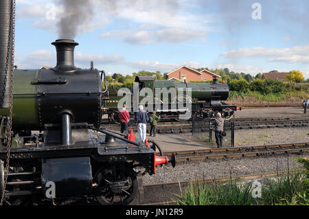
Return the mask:
<path fill-rule="evenodd" d="M 12 1 L 1 1 L 0 204 L 130 203 L 137 168 L 155 174 L 156 165 L 174 166 L 174 156 L 157 156 L 153 141 L 100 128 L 105 73 L 75 67 L 75 41 L 52 43 L 56 67 L 13 69 L 13 14 Z"/>

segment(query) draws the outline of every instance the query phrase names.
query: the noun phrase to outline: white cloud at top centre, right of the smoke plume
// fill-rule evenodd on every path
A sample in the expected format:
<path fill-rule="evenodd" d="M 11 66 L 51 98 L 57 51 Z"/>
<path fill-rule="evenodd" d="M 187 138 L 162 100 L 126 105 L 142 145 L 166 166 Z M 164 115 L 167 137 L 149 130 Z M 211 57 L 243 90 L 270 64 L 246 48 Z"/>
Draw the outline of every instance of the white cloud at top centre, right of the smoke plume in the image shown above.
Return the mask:
<path fill-rule="evenodd" d="M 210 30 L 209 23 L 214 21 L 212 16 L 190 12 L 187 7 L 189 2 L 184 0 L 95 0 L 95 5 L 99 5 L 108 16 L 136 23 L 159 25 L 165 28 Z"/>

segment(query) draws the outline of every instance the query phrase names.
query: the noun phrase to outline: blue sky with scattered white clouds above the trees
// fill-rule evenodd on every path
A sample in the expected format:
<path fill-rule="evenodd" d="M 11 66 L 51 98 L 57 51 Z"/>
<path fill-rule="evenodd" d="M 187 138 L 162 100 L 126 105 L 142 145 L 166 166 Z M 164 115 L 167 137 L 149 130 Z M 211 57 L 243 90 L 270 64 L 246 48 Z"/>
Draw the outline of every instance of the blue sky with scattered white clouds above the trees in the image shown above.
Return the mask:
<path fill-rule="evenodd" d="M 187 65 L 309 78 L 308 11 L 307 0 L 16 0 L 16 65 L 54 66 L 50 43 L 73 38 L 77 67 L 110 74 Z"/>

